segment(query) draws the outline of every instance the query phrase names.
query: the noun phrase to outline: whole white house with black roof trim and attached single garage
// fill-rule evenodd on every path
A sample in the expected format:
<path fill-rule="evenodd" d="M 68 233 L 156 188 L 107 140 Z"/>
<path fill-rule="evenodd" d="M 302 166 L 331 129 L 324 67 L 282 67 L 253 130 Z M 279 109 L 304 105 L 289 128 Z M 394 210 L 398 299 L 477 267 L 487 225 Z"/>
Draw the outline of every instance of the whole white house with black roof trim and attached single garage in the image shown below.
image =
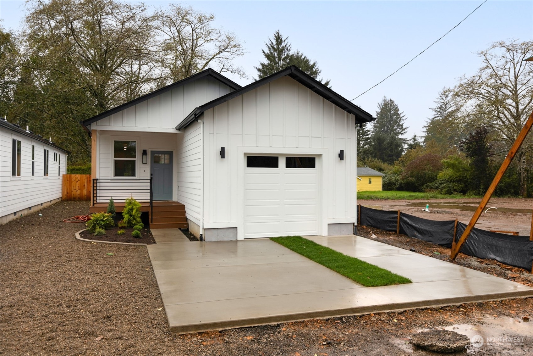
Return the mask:
<path fill-rule="evenodd" d="M 372 120 L 294 66 L 242 88 L 208 69 L 83 122 L 92 209 L 106 192 L 147 201 L 152 175 L 152 228 L 174 227 L 166 201 L 206 241 L 351 234 L 356 128 Z"/>

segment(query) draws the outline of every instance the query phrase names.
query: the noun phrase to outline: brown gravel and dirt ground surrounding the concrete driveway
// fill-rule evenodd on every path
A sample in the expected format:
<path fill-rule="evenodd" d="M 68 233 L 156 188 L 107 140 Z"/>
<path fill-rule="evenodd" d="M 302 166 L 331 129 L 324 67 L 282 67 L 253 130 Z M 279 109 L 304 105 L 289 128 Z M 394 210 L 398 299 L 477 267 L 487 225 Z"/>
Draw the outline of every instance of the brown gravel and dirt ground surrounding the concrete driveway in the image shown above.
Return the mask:
<path fill-rule="evenodd" d="M 533 317 L 533 298 L 174 335 L 146 247 L 76 240 L 82 224 L 62 220 L 86 214 L 86 202 L 59 202 L 41 212 L 42 217 L 34 213 L 0 226 L 0 354 L 430 355 L 411 346 L 409 336 L 445 327 L 523 337 L 513 345 L 470 347 L 469 354 L 533 354 L 533 322 L 524 321 Z M 424 254 L 442 249 L 373 231 L 380 241 Z M 444 250 L 433 256 L 446 258 Z M 523 270 L 458 258 L 466 260 L 472 268 L 532 281 Z"/>

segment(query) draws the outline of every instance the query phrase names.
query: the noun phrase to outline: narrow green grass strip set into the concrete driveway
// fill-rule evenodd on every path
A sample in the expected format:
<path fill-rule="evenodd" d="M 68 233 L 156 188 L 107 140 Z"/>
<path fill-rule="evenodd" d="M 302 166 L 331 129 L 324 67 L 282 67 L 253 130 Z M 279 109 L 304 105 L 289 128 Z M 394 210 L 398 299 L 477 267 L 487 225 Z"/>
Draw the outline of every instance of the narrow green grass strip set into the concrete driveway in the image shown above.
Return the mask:
<path fill-rule="evenodd" d="M 341 252 L 322 246 L 301 236 L 284 236 L 270 240 L 293 250 L 365 287 L 391 286 L 412 281 L 384 268 L 369 264 L 359 258 L 346 256 Z"/>

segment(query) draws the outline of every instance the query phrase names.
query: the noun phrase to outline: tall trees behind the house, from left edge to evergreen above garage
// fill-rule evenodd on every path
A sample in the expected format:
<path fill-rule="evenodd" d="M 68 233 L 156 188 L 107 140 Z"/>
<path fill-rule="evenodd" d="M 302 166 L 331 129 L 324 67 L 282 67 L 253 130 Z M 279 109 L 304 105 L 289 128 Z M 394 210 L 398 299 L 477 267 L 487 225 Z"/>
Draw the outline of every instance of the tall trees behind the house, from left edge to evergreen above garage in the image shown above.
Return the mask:
<path fill-rule="evenodd" d="M 91 160 L 80 121 L 207 68 L 246 77 L 235 65 L 243 43 L 192 7 L 31 0 L 26 9 L 18 31 L 0 26 L 0 113 L 52 137 L 71 152 L 71 166 Z M 259 78 L 291 64 L 320 74 L 279 31 L 265 45 Z"/>

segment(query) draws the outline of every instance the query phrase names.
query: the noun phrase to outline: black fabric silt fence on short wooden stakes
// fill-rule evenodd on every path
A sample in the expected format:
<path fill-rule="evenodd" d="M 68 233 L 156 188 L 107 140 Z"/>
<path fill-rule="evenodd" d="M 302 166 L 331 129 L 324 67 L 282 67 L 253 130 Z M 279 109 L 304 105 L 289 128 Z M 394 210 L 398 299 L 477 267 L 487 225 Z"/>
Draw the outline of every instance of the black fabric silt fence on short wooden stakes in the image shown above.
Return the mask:
<path fill-rule="evenodd" d="M 359 225 L 372 226 L 385 231 L 397 231 L 398 212 L 362 207 Z M 454 238 L 455 220 L 436 221 L 400 213 L 400 233 L 419 240 L 451 248 Z M 457 223 L 456 241 L 466 225 Z M 506 265 L 531 270 L 533 264 L 533 241 L 529 236 L 513 236 L 473 228 L 461 247 L 465 255 L 495 259 Z"/>

